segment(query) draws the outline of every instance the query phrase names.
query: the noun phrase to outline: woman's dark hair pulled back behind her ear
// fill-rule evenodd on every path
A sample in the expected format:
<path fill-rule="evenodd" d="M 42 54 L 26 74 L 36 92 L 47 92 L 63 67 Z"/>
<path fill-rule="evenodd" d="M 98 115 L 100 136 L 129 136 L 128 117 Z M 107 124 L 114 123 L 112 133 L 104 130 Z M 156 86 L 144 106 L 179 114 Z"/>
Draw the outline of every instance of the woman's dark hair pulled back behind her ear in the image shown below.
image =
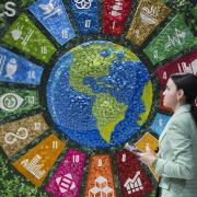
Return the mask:
<path fill-rule="evenodd" d="M 197 97 L 197 76 L 193 73 L 175 73 L 171 76 L 176 88 L 184 91 L 186 104 L 190 104 L 190 113 L 195 123 L 197 124 L 197 106 L 195 100 Z"/>

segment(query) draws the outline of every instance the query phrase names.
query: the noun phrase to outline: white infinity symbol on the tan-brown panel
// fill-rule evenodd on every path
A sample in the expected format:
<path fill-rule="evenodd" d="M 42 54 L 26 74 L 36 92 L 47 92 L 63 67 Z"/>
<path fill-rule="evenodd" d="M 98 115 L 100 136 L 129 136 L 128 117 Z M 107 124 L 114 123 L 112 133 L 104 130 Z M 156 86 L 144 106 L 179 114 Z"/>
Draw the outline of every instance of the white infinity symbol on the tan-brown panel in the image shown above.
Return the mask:
<path fill-rule="evenodd" d="M 20 127 L 15 134 L 7 132 L 4 136 L 4 141 L 9 144 L 13 144 L 18 141 L 18 139 L 25 140 L 27 136 L 28 136 L 28 130 L 24 127 Z"/>

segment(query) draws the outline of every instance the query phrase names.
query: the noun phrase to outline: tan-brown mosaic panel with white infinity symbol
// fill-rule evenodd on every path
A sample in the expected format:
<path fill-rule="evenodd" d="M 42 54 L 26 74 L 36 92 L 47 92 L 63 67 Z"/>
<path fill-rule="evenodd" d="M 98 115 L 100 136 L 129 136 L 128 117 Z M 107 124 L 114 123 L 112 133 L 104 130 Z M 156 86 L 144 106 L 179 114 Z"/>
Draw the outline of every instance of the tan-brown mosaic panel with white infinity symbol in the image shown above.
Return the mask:
<path fill-rule="evenodd" d="M 42 114 L 0 126 L 0 146 L 10 158 L 48 129 Z"/>

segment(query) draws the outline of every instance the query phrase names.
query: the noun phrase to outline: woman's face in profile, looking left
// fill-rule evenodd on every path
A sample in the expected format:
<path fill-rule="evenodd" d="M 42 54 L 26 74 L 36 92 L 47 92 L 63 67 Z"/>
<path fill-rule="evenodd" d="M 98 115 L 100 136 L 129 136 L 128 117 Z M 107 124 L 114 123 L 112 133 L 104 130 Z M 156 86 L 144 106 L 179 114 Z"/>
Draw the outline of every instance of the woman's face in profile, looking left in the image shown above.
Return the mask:
<path fill-rule="evenodd" d="M 175 109 L 177 105 L 177 88 L 171 78 L 166 83 L 166 89 L 163 92 L 163 105 Z"/>

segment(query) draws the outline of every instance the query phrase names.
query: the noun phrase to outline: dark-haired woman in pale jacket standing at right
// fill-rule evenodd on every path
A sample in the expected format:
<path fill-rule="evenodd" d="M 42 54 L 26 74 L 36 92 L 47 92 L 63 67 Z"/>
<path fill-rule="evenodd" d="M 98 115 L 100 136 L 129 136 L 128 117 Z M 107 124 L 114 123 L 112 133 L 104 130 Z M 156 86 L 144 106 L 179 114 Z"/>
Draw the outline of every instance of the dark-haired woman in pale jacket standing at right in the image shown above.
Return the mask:
<path fill-rule="evenodd" d="M 158 157 L 149 144 L 136 155 L 161 176 L 159 196 L 197 197 L 197 77 L 172 74 L 163 94 L 174 114 L 159 138 Z"/>

